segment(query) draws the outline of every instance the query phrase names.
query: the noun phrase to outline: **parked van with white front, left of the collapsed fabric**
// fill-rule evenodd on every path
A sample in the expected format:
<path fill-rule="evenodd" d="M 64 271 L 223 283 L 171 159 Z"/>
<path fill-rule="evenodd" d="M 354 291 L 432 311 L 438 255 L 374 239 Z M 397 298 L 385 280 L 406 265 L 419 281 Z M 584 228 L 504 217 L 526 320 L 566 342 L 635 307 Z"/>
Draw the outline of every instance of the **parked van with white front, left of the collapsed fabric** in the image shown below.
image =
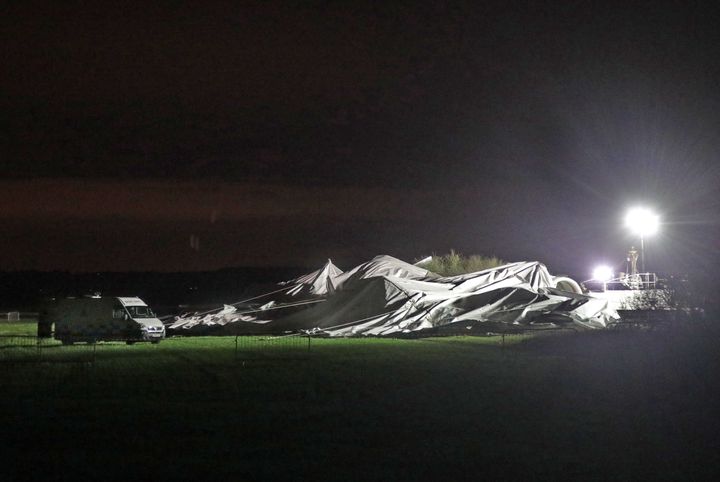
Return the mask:
<path fill-rule="evenodd" d="M 165 326 L 135 297 L 57 300 L 47 307 L 39 323 L 45 327 L 55 323 L 55 339 L 65 345 L 79 341 L 160 343 L 165 338 Z"/>

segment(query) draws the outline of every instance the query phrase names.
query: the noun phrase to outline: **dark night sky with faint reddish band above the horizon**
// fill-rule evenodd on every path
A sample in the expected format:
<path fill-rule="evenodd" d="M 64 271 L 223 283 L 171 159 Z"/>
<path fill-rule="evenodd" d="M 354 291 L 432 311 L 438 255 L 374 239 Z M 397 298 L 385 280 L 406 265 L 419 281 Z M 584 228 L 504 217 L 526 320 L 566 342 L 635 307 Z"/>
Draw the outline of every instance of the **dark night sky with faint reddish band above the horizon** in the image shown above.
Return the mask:
<path fill-rule="evenodd" d="M 720 17 L 701 3 L 12 2 L 0 270 L 553 273 L 720 264 Z M 690 3 L 690 2 L 687 2 Z"/>

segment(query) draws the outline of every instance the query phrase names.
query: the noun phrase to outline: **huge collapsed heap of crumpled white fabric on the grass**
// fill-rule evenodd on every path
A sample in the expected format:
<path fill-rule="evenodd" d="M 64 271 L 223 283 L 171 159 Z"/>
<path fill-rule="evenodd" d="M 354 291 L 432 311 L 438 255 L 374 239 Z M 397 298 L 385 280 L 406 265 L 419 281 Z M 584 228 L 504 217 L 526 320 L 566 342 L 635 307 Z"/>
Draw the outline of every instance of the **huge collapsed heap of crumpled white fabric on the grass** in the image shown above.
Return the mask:
<path fill-rule="evenodd" d="M 561 279 L 567 278 L 553 277 L 539 262 L 439 277 L 385 255 L 345 273 L 328 261 L 313 273 L 281 283 L 288 287 L 281 293 L 285 297 L 315 297 L 323 302 L 290 314 L 276 309 L 282 308 L 279 303 L 272 315 L 258 310 L 253 320 L 246 314 L 226 313 L 223 320 L 233 321 L 222 324 L 233 333 L 384 336 L 448 328 L 502 331 L 570 325 L 593 329 L 619 320 L 606 301 L 558 289 Z M 207 322 L 221 324 L 217 318 Z M 193 320 L 191 326 L 178 319 L 169 328 L 212 325 L 203 318 Z"/>

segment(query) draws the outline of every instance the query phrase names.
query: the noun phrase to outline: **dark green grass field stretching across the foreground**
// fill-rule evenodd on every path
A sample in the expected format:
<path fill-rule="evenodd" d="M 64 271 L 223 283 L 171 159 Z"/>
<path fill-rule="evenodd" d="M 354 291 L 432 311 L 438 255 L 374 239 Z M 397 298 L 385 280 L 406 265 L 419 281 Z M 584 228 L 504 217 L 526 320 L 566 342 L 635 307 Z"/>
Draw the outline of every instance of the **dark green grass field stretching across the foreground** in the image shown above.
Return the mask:
<path fill-rule="evenodd" d="M 48 347 L 0 362 L 0 479 L 711 479 L 714 327 Z M 57 350 L 52 356 L 46 352 Z M 89 360 L 89 361 L 88 361 Z"/>

